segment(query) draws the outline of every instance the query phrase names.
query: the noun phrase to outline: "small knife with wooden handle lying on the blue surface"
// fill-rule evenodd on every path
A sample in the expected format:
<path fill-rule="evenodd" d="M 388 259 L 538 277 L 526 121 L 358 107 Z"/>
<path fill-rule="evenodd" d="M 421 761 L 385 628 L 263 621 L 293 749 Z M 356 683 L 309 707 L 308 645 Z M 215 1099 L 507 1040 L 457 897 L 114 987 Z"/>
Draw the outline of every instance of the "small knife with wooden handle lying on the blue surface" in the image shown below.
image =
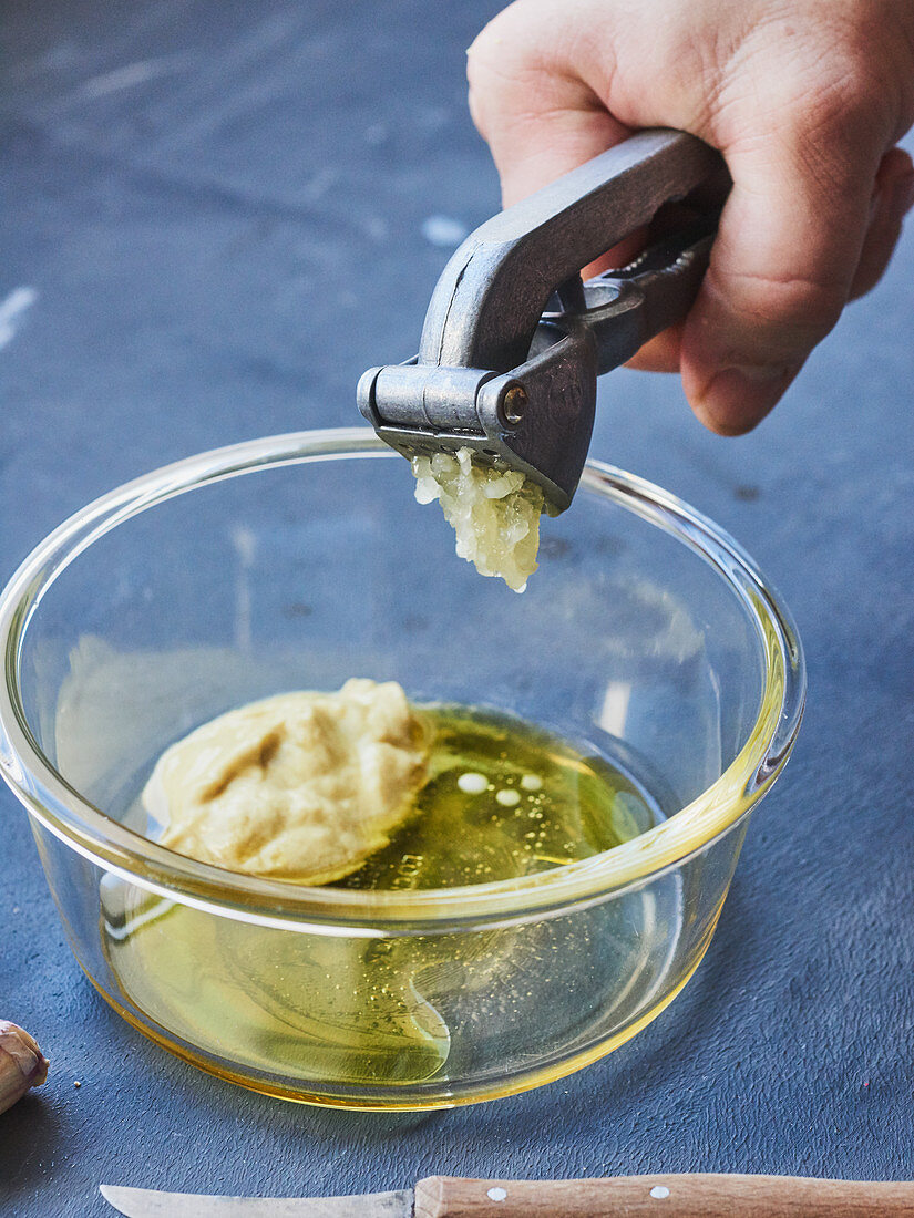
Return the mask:
<path fill-rule="evenodd" d="M 914 1183 L 790 1175 L 467 1180 L 349 1197 L 213 1197 L 102 1184 L 128 1218 L 914 1218 Z"/>

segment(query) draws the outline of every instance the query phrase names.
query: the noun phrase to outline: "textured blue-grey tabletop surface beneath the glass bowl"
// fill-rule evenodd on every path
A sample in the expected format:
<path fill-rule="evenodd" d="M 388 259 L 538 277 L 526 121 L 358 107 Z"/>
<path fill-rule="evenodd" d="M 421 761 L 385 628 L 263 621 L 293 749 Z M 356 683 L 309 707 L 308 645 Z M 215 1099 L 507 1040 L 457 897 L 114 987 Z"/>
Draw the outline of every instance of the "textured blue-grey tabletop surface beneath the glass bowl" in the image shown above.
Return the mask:
<path fill-rule="evenodd" d="M 191 452 L 353 421 L 414 347 L 446 242 L 497 206 L 463 50 L 496 0 L 6 5 L 0 570 Z M 445 245 L 439 242 L 445 242 Z M 123 1023 L 72 960 L 0 797 L 0 1017 L 54 1060 L 0 1116 L 0 1209 L 102 1180 L 251 1194 L 447 1172 L 914 1178 L 914 242 L 754 435 L 614 374 L 593 451 L 734 532 L 810 676 L 706 962 L 632 1043 L 511 1100 L 401 1119 L 243 1091 Z M 76 1082 L 80 1086 L 76 1086 Z"/>

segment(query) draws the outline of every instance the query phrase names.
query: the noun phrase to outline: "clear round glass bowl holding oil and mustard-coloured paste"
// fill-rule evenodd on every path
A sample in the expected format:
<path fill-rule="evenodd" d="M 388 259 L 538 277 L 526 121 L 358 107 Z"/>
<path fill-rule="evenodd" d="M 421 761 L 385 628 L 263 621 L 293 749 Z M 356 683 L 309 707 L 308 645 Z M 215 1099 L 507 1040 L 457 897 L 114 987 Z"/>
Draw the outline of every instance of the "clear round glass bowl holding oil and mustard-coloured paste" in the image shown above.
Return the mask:
<path fill-rule="evenodd" d="M 4 775 L 71 945 L 166 1049 L 272 1095 L 434 1108 L 623 1044 L 708 946 L 748 812 L 803 704 L 790 615 L 673 496 L 589 464 L 518 596 L 455 557 L 368 429 L 179 462 L 61 525 L 0 599 Z M 256 698 L 396 680 L 614 762 L 656 823 L 515 881 L 306 888 L 147 840 L 136 797 L 196 725 Z"/>

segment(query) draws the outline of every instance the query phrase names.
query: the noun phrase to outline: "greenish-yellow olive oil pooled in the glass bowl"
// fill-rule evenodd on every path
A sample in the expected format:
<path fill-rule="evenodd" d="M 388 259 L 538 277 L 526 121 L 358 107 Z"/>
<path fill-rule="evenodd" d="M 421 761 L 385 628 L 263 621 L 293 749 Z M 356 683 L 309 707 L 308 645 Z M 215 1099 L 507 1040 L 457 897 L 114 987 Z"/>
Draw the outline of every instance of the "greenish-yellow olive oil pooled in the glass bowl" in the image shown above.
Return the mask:
<path fill-rule="evenodd" d="M 434 744 L 414 815 L 339 888 L 517 881 L 611 849 L 659 816 L 651 797 L 593 750 L 495 711 L 422 713 Z M 523 1039 L 525 1012 L 541 1002 L 557 1018 L 569 1002 L 580 1007 L 585 1028 L 615 994 L 640 984 L 647 959 L 642 905 L 622 901 L 522 926 L 402 938 L 251 924 L 113 876 L 102 882 L 101 906 L 128 1009 L 217 1073 L 232 1075 L 232 1063 L 243 1063 L 246 1077 L 297 1080 L 316 1094 L 322 1083 L 349 1084 L 357 1097 L 372 1086 L 440 1082 L 450 1071 L 461 1077 L 470 1063 L 503 1058 L 513 1038 Z"/>

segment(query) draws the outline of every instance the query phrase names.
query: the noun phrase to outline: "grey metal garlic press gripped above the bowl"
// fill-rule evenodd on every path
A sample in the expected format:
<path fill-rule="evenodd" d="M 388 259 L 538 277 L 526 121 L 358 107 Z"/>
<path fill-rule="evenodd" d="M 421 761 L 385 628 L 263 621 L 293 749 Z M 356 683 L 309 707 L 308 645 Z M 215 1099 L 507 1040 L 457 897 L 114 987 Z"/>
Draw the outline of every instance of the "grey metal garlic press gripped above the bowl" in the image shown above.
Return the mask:
<path fill-rule="evenodd" d="M 685 317 L 717 212 L 674 227 L 622 270 L 581 283 L 580 269 L 721 169 L 692 135 L 641 132 L 486 220 L 445 267 L 418 356 L 360 380 L 362 414 L 405 457 L 470 448 L 564 510 L 597 376 Z"/>

